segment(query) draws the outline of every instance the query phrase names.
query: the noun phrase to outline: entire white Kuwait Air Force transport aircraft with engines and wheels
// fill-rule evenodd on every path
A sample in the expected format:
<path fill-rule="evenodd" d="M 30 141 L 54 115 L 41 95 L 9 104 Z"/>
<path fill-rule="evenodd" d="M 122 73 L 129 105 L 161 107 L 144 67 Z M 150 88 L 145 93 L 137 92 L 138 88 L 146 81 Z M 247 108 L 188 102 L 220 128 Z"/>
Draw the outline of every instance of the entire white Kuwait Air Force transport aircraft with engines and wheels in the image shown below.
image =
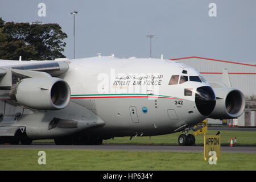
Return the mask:
<path fill-rule="evenodd" d="M 101 144 L 113 137 L 188 131 L 205 118 L 239 117 L 243 93 L 209 84 L 188 65 L 164 59 L 97 56 L 0 60 L 0 143 Z"/>

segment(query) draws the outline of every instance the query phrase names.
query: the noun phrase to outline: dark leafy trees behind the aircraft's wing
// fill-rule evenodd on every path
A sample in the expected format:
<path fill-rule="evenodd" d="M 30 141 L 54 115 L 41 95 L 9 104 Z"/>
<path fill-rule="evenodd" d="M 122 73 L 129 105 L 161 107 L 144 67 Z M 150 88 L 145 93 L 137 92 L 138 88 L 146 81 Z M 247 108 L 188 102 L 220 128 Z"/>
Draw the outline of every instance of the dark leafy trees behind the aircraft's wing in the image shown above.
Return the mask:
<path fill-rule="evenodd" d="M 0 17 L 0 59 L 54 60 L 63 55 L 67 38 L 59 24 L 5 22 Z"/>

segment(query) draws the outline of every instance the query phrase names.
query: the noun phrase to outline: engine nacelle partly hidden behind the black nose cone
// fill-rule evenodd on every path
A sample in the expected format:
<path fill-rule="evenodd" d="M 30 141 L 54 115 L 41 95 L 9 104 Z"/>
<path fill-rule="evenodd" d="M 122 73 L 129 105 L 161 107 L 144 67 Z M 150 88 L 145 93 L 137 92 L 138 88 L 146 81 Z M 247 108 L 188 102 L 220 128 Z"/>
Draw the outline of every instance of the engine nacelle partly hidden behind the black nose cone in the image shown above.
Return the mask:
<path fill-rule="evenodd" d="M 235 88 L 213 88 L 216 105 L 209 115 L 213 119 L 232 119 L 240 117 L 245 109 L 245 96 Z"/>

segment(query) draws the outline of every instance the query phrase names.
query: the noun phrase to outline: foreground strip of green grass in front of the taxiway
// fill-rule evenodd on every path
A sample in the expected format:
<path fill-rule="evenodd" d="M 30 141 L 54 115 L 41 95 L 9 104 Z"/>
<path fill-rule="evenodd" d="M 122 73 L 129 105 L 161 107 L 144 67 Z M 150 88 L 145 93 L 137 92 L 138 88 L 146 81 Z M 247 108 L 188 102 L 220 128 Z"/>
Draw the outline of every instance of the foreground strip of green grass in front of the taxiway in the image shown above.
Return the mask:
<path fill-rule="evenodd" d="M 222 153 L 217 165 L 200 152 L 1 149 L 0 170 L 256 170 L 256 154 Z"/>

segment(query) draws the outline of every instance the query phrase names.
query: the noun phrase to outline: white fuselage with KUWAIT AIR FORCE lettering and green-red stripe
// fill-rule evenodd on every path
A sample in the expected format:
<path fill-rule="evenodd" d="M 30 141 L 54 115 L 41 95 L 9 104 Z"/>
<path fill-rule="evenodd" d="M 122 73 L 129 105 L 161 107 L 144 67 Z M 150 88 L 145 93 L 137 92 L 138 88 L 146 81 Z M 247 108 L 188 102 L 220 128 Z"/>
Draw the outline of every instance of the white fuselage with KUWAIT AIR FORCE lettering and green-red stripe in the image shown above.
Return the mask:
<path fill-rule="evenodd" d="M 15 61 L 15 64 L 24 62 Z M 11 64 L 14 63 L 2 63 Z M 187 73 L 183 73 L 184 70 Z M 179 80 L 170 85 L 175 75 Z M 200 76 L 200 73 L 185 64 L 161 59 L 90 57 L 69 60 L 69 70 L 60 78 L 71 88 L 71 102 L 65 109 L 43 113 L 68 115 L 80 121 L 91 119 L 86 115 L 91 111 L 105 125 L 82 131 L 85 135 L 118 137 L 173 133 L 180 126 L 193 126 L 206 118 L 197 110 L 195 90 L 210 85 L 189 79 L 179 84 L 181 76 L 189 78 Z M 184 95 L 186 88 L 194 90 L 191 96 Z M 84 107 L 86 112 L 74 113 L 73 105 Z M 29 120 L 27 115 L 24 114 L 24 118 L 27 117 L 24 123 Z M 39 119 L 38 122 L 43 121 Z"/>

